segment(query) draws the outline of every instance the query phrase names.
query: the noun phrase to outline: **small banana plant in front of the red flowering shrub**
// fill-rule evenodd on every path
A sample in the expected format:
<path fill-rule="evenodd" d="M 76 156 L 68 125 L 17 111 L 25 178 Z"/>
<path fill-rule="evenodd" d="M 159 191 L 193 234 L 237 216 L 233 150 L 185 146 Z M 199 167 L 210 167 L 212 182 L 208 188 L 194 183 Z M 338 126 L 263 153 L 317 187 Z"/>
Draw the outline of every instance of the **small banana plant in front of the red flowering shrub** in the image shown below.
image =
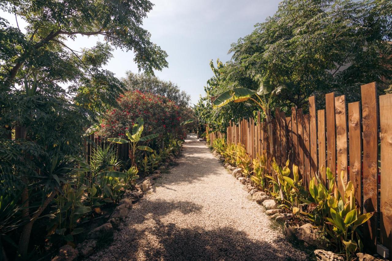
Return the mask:
<path fill-rule="evenodd" d="M 132 166 L 136 166 L 136 160 L 135 160 L 136 149 L 145 150 L 148 152 L 154 151 L 148 146 L 138 145 L 139 141 L 149 141 L 149 140 L 152 140 L 152 139 L 159 136 L 159 134 L 150 134 L 150 135 L 142 137 L 142 132 L 144 129 L 143 125 L 144 125 L 143 119 L 137 118 L 136 123 L 134 123 L 134 125 L 132 127 L 132 134 L 128 130 L 125 131 L 125 135 L 127 135 L 128 140 L 125 140 L 122 138 L 108 138 L 107 139 L 108 141 L 118 143 L 118 144 L 126 144 L 126 143 L 130 144 L 129 158 L 131 159 Z"/>

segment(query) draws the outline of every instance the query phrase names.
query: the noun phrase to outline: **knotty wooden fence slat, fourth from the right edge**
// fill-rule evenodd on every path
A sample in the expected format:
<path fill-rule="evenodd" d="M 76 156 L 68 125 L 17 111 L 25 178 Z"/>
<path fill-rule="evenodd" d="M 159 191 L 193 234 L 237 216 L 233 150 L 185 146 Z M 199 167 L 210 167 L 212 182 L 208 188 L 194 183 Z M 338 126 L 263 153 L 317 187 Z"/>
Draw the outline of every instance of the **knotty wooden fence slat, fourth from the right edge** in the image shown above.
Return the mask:
<path fill-rule="evenodd" d="M 347 115 L 346 115 L 346 96 L 335 97 L 335 120 L 336 120 L 336 156 L 338 189 L 343 195 L 343 186 L 347 185 Z M 344 172 L 343 182 L 341 172 Z"/>

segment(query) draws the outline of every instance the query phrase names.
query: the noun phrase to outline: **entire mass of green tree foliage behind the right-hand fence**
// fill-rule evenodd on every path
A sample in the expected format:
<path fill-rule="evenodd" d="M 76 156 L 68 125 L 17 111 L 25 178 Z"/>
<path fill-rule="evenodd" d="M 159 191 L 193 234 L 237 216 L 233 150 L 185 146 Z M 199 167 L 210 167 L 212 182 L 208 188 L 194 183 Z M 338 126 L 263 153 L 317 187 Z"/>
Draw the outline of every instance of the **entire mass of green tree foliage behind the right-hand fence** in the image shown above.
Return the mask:
<path fill-rule="evenodd" d="M 214 76 L 195 106 L 200 124 L 224 130 L 230 120 L 254 116 L 259 109 L 250 100 L 215 111 L 209 103 L 229 90 L 256 91 L 260 79 L 287 87 L 270 99 L 272 114 L 274 107 L 306 111 L 311 95 L 322 106 L 331 91 L 357 101 L 360 85 L 369 82 L 377 82 L 380 93 L 390 92 L 391 11 L 388 0 L 282 1 L 273 16 L 232 44 L 229 62 L 210 63 Z"/>

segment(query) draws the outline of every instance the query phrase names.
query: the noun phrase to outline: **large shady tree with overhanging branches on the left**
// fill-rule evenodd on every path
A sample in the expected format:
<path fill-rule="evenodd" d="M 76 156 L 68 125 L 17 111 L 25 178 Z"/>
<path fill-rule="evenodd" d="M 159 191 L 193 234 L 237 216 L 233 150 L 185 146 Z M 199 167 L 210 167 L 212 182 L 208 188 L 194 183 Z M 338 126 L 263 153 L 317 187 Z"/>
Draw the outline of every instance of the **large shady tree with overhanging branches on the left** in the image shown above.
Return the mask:
<path fill-rule="evenodd" d="M 133 50 L 147 73 L 167 67 L 167 54 L 140 26 L 152 6 L 147 0 L 0 0 L 3 11 L 27 23 L 22 33 L 0 18 L 0 171 L 21 190 L 18 259 L 27 259 L 34 222 L 70 174 L 53 171 L 82 153 L 83 128 L 118 106 L 124 85 L 102 69 L 112 48 Z M 67 46 L 65 40 L 82 35 L 102 35 L 105 43 L 82 51 Z"/>

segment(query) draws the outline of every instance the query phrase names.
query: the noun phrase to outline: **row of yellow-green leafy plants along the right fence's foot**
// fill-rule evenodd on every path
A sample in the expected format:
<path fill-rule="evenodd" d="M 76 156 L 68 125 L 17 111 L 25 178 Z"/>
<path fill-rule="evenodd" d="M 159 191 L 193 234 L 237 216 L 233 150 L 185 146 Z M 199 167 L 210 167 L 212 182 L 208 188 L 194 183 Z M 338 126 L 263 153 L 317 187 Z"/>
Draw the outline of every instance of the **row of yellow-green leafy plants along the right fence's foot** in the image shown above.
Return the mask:
<path fill-rule="evenodd" d="M 362 239 L 358 228 L 365 223 L 373 213 L 361 214 L 356 205 L 355 191 L 352 181 L 344 181 L 344 172 L 341 173 L 341 183 L 344 184 L 344 194 L 337 188 L 333 173 L 327 168 L 328 188 L 323 185 L 318 176 L 309 182 L 309 191 L 305 190 L 302 180 L 299 179 L 298 166 L 289 169 L 289 161 L 280 167 L 273 161 L 274 174 L 268 174 L 266 169 L 266 153 L 253 159 L 243 156 L 242 145 L 225 144 L 223 139 L 213 142 L 214 149 L 226 158 L 226 161 L 243 169 L 244 176 L 249 173 L 250 179 L 261 190 L 268 191 L 281 207 L 292 210 L 293 214 L 301 214 L 319 227 L 321 234 L 325 234 L 336 250 L 344 250 L 347 260 L 352 254 L 363 250 Z M 249 157 L 249 156 L 248 156 Z M 248 161 L 248 162 L 245 162 Z M 304 207 L 306 211 L 300 211 Z"/>

